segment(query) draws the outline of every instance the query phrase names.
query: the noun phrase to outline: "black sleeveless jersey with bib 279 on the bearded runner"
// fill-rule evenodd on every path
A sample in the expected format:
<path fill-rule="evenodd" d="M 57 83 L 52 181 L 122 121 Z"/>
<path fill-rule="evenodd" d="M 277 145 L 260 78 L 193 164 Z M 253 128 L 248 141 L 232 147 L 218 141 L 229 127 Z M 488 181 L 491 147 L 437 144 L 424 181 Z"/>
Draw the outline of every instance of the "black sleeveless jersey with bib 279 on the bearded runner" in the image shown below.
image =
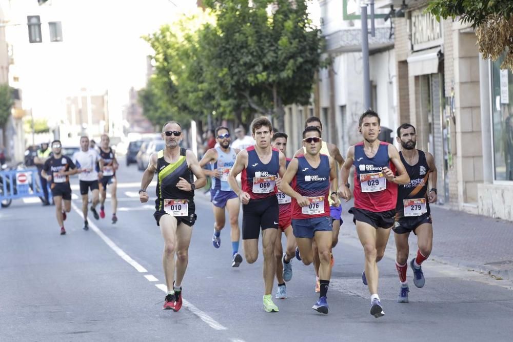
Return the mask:
<path fill-rule="evenodd" d="M 406 163 L 403 153 L 399 152 L 406 172 L 410 176 L 410 183 L 398 187 L 396 218 L 403 216 L 420 216 L 424 213 L 431 213 L 427 201 L 427 187 L 429 184 L 429 166 L 427 165 L 426 154 L 419 152 L 419 161 L 415 165 Z"/>

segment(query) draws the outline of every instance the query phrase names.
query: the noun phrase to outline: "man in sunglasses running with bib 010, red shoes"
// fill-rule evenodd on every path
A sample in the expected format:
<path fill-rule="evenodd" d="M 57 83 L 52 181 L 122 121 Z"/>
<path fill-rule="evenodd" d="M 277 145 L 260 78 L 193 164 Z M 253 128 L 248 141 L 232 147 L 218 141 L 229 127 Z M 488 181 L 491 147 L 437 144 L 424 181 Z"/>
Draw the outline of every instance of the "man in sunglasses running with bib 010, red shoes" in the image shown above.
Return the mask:
<path fill-rule="evenodd" d="M 146 188 L 151 183 L 153 174 L 157 173 L 157 198 L 153 216 L 164 238 L 162 264 L 167 293 L 163 309 L 178 311 L 182 308 L 182 280 L 189 261 L 189 244 L 196 220 L 194 189 L 204 187 L 207 180 L 198 158 L 192 151 L 180 147 L 183 135 L 179 123 L 166 123 L 161 135 L 166 147 L 151 154 L 141 180 L 139 198 L 141 203 L 148 202 Z M 193 176 L 196 176 L 195 182 Z"/>

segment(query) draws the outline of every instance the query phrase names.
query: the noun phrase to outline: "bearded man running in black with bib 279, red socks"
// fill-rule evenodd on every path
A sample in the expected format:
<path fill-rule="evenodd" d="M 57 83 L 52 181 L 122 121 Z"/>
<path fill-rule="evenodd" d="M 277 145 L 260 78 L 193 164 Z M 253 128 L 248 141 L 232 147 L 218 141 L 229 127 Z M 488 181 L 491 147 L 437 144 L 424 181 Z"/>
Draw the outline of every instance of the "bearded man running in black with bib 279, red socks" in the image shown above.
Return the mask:
<path fill-rule="evenodd" d="M 422 262 L 431 254 L 433 246 L 433 226 L 431 221 L 430 203 L 437 202 L 437 167 L 435 158 L 431 153 L 415 148 L 417 133 L 410 124 L 402 124 L 397 129 L 397 141 L 401 144 L 399 156 L 408 172 L 410 183 L 400 185 L 397 196 L 396 223 L 392 230 L 396 240 L 396 268 L 401 281 L 401 290 L 397 301 L 408 303 L 408 237 L 410 232 L 417 235 L 417 257 L 411 259 L 410 267 L 413 270 L 413 284 L 421 288 L 425 279 L 422 272 Z M 429 180 L 433 188 L 428 189 Z"/>

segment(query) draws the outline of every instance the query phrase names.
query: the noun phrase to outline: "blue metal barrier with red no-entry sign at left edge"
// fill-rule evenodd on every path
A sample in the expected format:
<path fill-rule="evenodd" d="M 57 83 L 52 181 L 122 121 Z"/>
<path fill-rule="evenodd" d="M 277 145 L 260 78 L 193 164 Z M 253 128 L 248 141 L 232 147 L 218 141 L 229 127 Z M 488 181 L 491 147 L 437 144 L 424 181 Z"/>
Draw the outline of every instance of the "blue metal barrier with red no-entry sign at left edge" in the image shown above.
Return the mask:
<path fill-rule="evenodd" d="M 44 196 L 43 189 L 37 183 L 38 177 L 36 168 L 0 171 L 0 187 L 3 190 L 0 201 Z"/>

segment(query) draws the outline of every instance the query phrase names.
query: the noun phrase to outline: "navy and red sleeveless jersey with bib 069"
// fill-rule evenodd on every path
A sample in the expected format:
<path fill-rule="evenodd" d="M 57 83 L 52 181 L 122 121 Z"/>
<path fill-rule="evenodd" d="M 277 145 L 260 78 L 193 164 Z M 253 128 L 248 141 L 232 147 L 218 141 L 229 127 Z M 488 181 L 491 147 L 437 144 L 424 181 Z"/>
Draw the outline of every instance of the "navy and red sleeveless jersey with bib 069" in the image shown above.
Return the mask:
<path fill-rule="evenodd" d="M 278 193 L 276 178 L 280 171 L 280 151 L 272 149 L 269 163 L 260 160 L 254 146 L 246 148 L 248 151 L 248 166 L 242 170 L 242 191 L 247 192 L 251 199 L 266 198 Z"/>

